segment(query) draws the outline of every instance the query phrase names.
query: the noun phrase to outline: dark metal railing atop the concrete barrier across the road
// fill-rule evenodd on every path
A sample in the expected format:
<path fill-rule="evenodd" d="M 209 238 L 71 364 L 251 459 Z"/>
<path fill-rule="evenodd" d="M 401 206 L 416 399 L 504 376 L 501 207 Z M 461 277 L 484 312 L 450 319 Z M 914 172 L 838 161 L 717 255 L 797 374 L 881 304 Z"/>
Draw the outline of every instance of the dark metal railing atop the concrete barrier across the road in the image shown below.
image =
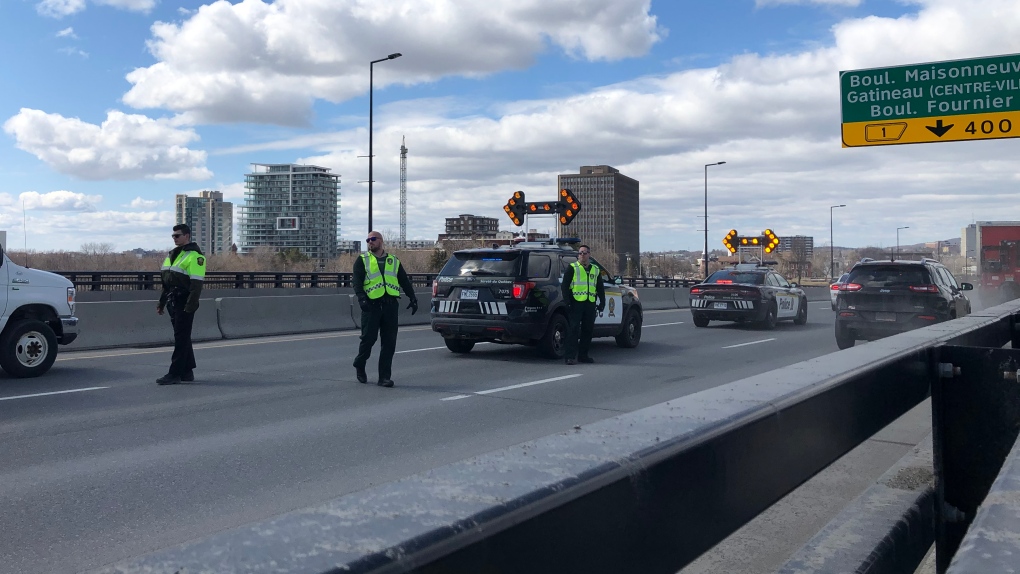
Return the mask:
<path fill-rule="evenodd" d="M 159 271 L 56 271 L 79 291 L 153 291 L 160 289 Z M 431 286 L 435 273 L 408 273 L 414 286 Z M 273 271 L 209 271 L 206 289 L 316 289 L 349 288 L 353 273 L 296 273 Z M 624 277 L 639 288 L 691 286 L 699 279 Z"/>

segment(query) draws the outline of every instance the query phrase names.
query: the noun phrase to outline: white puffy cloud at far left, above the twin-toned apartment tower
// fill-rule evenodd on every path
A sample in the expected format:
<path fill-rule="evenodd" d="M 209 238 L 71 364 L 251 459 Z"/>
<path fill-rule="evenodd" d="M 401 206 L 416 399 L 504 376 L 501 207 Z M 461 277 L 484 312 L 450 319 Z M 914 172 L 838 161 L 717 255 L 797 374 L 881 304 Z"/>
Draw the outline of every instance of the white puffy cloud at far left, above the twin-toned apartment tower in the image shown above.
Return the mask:
<path fill-rule="evenodd" d="M 204 151 L 186 146 L 192 129 L 172 120 L 107 112 L 96 125 L 78 118 L 21 108 L 4 123 L 17 147 L 50 167 L 82 179 L 205 179 Z"/>

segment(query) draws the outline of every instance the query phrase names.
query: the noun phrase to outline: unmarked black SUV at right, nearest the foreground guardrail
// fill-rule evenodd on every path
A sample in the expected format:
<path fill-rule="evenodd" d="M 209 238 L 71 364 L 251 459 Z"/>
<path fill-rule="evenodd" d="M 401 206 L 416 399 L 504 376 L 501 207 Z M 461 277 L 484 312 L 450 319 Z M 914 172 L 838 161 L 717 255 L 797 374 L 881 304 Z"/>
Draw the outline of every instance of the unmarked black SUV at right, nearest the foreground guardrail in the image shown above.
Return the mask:
<path fill-rule="evenodd" d="M 970 313 L 959 283 L 933 259 L 862 261 L 850 270 L 836 294 L 835 343 L 839 349 L 861 338 L 874 341 Z"/>

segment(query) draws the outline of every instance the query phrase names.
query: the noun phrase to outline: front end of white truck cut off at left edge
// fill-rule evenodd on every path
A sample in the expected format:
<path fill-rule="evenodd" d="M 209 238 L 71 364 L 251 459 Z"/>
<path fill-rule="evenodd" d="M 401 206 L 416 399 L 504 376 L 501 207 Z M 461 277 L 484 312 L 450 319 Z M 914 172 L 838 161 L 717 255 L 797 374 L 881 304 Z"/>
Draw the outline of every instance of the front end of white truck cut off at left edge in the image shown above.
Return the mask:
<path fill-rule="evenodd" d="M 14 377 L 53 366 L 57 345 L 78 337 L 74 285 L 55 273 L 14 263 L 0 246 L 0 367 Z"/>

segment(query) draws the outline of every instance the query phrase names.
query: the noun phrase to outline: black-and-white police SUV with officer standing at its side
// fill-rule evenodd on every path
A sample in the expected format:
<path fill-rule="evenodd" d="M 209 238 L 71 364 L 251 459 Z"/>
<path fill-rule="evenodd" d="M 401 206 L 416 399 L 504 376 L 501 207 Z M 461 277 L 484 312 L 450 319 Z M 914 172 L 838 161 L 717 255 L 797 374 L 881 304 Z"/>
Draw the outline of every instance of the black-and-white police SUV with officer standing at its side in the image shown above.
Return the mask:
<path fill-rule="evenodd" d="M 538 346 L 547 357 L 563 358 L 567 310 L 560 282 L 577 260 L 577 243 L 525 242 L 455 252 L 432 282 L 432 330 L 454 353 L 491 342 Z M 638 347 L 643 321 L 638 290 L 611 278 L 595 258 L 592 262 L 602 269 L 606 290 L 595 336 L 615 336 L 620 347 Z"/>

